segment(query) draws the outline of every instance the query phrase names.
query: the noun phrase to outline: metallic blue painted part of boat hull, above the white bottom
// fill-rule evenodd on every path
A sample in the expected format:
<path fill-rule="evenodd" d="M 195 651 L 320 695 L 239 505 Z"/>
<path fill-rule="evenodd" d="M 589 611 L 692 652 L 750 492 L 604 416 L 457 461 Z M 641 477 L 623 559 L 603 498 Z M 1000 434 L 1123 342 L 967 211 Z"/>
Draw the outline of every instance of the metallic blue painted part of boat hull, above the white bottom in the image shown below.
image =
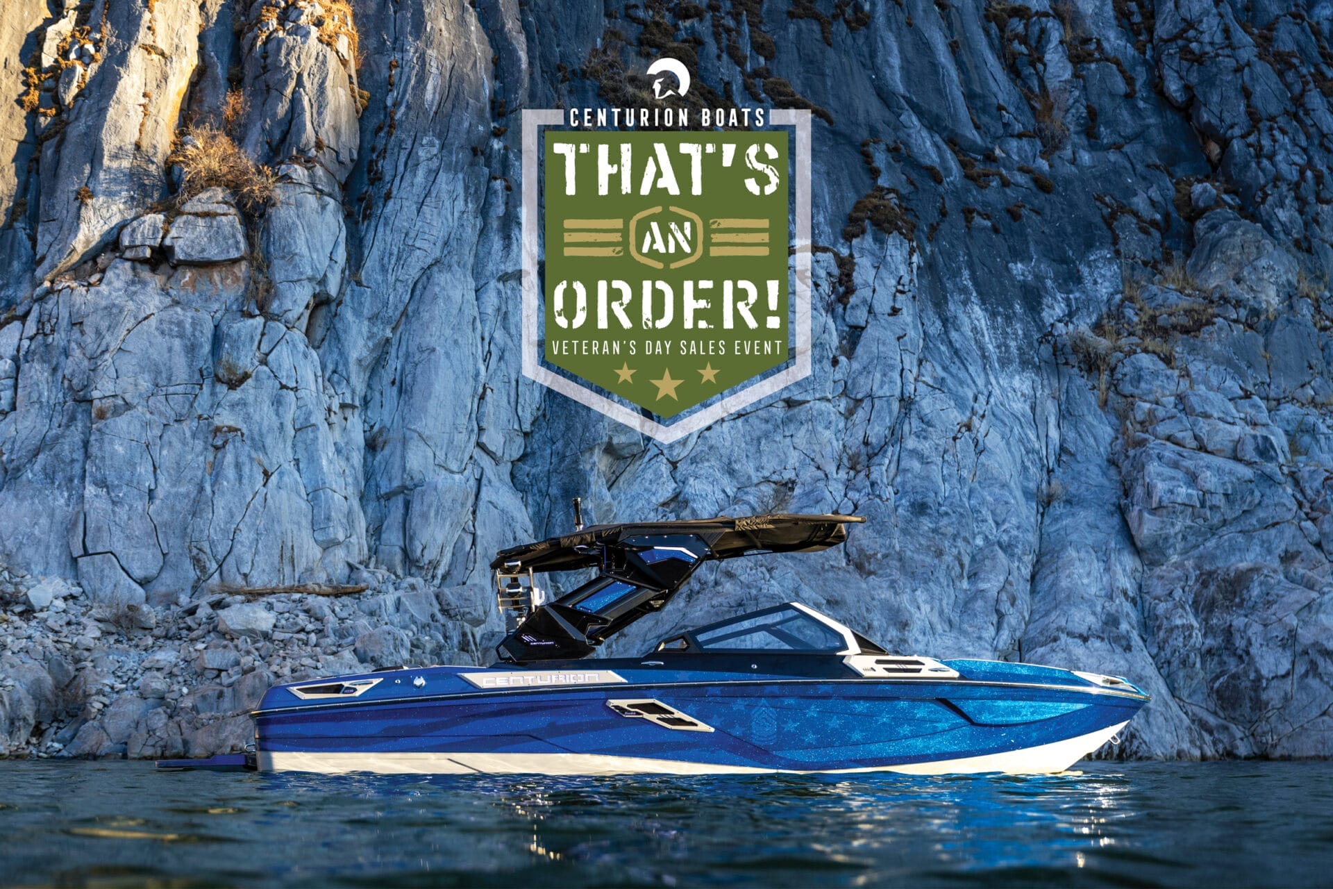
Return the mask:
<path fill-rule="evenodd" d="M 833 770 L 1061 741 L 1125 722 L 1145 700 L 1129 685 L 1117 694 L 1068 670 L 1020 664 L 946 661 L 961 678 L 877 680 L 842 678 L 840 664 L 822 670 L 833 676 L 793 677 L 741 660 L 710 669 L 581 661 L 568 669 L 613 669 L 627 682 L 499 692 L 457 676 L 480 668 L 392 670 L 367 674 L 384 681 L 355 701 L 301 701 L 277 686 L 256 713 L 257 744 L 267 752 L 584 753 Z M 655 698 L 714 730 L 627 718 L 607 705 L 613 698 Z"/>

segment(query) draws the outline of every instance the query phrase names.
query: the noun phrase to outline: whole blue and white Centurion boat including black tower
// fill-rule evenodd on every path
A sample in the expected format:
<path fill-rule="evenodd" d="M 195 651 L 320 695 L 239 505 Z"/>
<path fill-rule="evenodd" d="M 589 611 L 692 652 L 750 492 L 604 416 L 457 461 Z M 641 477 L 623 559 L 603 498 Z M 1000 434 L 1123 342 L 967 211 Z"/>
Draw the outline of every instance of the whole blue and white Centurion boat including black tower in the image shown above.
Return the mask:
<path fill-rule="evenodd" d="M 704 562 L 816 552 L 853 516 L 596 525 L 499 553 L 508 636 L 487 668 L 401 668 L 271 689 L 261 770 L 379 773 L 1061 772 L 1148 701 L 1124 678 L 892 654 L 797 602 L 584 660 Z M 592 580 L 555 601 L 548 572 Z"/>

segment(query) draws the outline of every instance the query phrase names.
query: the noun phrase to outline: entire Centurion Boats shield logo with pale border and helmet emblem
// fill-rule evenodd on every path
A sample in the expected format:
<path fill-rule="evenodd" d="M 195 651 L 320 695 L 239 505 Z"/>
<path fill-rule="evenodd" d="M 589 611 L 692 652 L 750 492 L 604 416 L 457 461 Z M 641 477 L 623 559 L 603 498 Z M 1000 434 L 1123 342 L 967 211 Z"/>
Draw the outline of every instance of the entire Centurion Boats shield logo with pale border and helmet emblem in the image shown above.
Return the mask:
<path fill-rule="evenodd" d="M 689 89 L 674 60 L 648 73 Z M 523 127 L 525 376 L 672 441 L 809 375 L 809 112 Z"/>

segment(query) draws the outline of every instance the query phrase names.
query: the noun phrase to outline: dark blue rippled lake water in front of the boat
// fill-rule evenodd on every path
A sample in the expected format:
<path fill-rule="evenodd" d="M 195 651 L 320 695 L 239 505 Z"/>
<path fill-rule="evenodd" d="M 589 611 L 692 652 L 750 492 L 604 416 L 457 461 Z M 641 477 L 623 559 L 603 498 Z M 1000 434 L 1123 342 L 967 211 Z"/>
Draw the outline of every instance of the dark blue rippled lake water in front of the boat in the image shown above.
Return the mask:
<path fill-rule="evenodd" d="M 321 777 L 0 762 L 0 882 L 1329 885 L 1333 764 Z"/>

